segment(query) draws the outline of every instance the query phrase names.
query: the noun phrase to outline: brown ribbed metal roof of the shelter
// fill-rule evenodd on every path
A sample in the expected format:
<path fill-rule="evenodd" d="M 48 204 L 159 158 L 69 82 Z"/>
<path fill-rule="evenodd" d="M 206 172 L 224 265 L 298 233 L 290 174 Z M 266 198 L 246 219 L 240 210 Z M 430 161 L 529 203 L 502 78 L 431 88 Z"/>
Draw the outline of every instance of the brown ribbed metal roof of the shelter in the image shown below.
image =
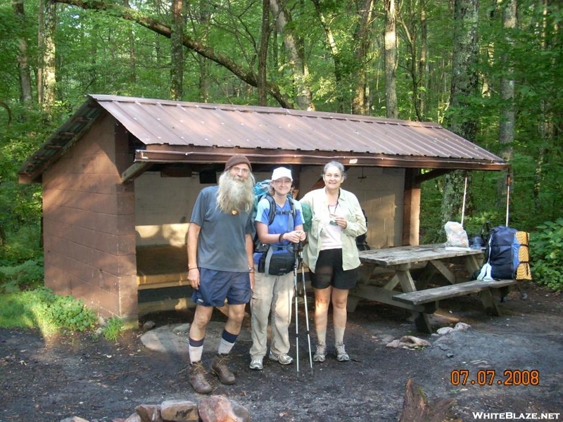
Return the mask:
<path fill-rule="evenodd" d="M 20 168 L 37 181 L 103 110 L 144 148 L 136 162 L 225 162 L 245 153 L 251 162 L 502 170 L 507 162 L 432 122 L 284 108 L 187 103 L 90 95 Z"/>

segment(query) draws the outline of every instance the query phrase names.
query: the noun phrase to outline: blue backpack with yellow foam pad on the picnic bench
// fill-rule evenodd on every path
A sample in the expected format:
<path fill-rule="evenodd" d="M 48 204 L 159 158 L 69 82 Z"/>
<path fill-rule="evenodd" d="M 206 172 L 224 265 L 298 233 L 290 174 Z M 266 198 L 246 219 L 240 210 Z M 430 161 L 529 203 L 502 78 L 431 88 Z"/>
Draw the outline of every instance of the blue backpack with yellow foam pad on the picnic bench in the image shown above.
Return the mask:
<path fill-rule="evenodd" d="M 526 231 L 508 226 L 493 227 L 485 257 L 493 279 L 531 280 L 529 233 Z"/>

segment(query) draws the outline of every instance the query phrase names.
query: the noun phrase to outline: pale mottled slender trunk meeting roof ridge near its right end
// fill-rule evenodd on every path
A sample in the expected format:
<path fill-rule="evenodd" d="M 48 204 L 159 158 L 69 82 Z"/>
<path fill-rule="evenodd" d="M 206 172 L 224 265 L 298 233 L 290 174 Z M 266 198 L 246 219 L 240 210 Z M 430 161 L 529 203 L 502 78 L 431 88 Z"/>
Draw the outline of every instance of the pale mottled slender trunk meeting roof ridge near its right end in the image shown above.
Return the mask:
<path fill-rule="evenodd" d="M 395 0 L 385 3 L 385 108 L 391 119 L 399 117 L 397 103 L 397 11 Z"/>

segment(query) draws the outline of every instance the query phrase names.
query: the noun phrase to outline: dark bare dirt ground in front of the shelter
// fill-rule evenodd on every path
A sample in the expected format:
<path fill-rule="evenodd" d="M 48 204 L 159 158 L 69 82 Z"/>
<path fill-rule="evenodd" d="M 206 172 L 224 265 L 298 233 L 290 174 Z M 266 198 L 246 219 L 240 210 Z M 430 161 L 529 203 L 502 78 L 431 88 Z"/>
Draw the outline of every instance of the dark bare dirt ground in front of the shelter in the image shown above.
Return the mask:
<path fill-rule="evenodd" d="M 475 296 L 441 302 L 436 327 L 456 321 L 472 326 L 442 336 L 417 333 L 409 314 L 401 309 L 360 302 L 348 319 L 345 339 L 350 362 L 336 362 L 329 355 L 312 370 L 301 305 L 300 371 L 295 364 L 281 366 L 267 359 L 263 371 L 251 371 L 251 342 L 241 340 L 232 352 L 237 383 L 226 386 L 215 379 L 214 394 L 242 404 L 253 421 L 398 421 L 405 383 L 412 378 L 430 403 L 454 399 L 457 421 L 474 421 L 478 411 L 551 412 L 558 413 L 552 419 L 561 420 L 562 296 L 531 283 L 520 290 L 513 289 L 508 300 L 499 304 L 502 316 L 484 314 Z M 144 320 L 160 326 L 191 322 L 191 316 L 187 310 Z M 218 312 L 213 316 L 223 318 Z M 295 331 L 291 333 L 295 356 Z M 0 329 L 0 421 L 58 422 L 73 415 L 91 422 L 112 421 L 126 418 L 138 404 L 201 399 L 187 381 L 186 356 L 148 350 L 139 334 L 130 331 L 112 343 L 91 335 L 46 340 L 37 331 Z M 329 344 L 330 335 L 329 330 Z M 432 345 L 423 350 L 386 347 L 403 335 L 416 335 Z M 213 350 L 206 349 L 204 361 L 208 364 L 212 357 Z M 484 370 L 495 371 L 493 385 L 479 385 Z M 464 371 L 468 380 L 461 385 L 457 375 Z M 519 385 L 508 385 L 511 380 Z"/>

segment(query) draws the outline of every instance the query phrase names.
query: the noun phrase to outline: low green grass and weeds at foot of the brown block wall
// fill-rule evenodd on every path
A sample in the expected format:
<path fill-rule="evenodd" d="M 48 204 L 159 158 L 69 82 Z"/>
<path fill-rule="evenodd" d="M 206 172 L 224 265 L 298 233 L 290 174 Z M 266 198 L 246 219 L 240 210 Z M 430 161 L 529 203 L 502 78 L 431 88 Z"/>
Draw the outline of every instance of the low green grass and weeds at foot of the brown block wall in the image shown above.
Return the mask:
<path fill-rule="evenodd" d="M 0 327 L 38 327 L 51 335 L 94 328 L 96 315 L 72 296 L 55 295 L 48 288 L 0 295 Z"/>

